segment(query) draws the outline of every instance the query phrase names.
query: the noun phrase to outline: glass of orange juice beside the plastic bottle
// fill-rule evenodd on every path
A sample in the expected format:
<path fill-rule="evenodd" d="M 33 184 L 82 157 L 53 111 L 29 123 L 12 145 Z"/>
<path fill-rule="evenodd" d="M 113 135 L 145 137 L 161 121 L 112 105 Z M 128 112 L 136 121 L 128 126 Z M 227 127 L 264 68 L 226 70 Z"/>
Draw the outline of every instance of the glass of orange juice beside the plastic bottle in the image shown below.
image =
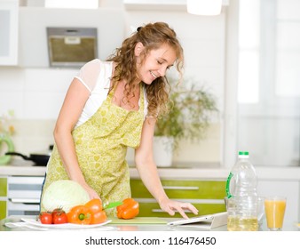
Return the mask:
<path fill-rule="evenodd" d="M 264 211 L 267 227 L 271 231 L 280 231 L 286 211 L 286 197 L 265 197 Z"/>

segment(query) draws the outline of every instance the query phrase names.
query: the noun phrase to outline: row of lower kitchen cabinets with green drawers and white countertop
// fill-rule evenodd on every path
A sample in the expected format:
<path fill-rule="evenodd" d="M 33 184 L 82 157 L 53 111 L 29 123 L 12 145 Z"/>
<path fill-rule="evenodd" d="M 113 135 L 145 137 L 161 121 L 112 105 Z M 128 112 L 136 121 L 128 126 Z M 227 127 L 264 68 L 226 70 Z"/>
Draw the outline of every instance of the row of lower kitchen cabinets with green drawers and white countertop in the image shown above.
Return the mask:
<path fill-rule="evenodd" d="M 28 176 L 30 183 L 42 184 L 46 167 L 26 165 L 3 165 L 0 167 L 0 211 L 1 215 L 7 213 L 6 201 L 9 189 L 6 189 L 11 176 L 14 181 L 20 182 L 24 176 Z M 158 173 L 168 196 L 173 199 L 193 203 L 200 214 L 217 213 L 225 211 L 225 181 L 229 169 L 186 167 L 186 168 L 159 168 Z M 285 221 L 300 221 L 300 167 L 257 167 L 258 185 L 257 193 L 260 196 L 281 195 L 288 198 Z M 42 178 L 41 178 L 42 177 Z M 170 217 L 163 213 L 154 197 L 147 191 L 139 178 L 138 171 L 130 167 L 130 184 L 132 197 L 140 203 L 139 216 Z M 39 187 L 37 189 L 40 189 Z M 28 192 L 28 191 L 27 191 Z M 33 191 L 30 191 L 31 193 Z M 35 192 L 35 198 L 39 195 Z M 22 194 L 22 197 L 33 198 Z M 28 206 L 28 205 L 26 205 Z M 187 213 L 192 216 L 191 213 Z M 179 217 L 176 214 L 176 217 Z"/>

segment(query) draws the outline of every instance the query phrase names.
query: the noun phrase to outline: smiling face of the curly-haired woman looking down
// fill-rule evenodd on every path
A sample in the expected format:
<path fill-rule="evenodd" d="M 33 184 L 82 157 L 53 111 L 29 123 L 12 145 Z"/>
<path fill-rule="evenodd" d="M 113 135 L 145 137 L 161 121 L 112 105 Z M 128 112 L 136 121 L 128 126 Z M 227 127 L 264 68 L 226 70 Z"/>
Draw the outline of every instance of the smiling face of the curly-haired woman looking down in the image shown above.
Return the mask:
<path fill-rule="evenodd" d="M 141 50 L 143 48 L 142 46 Z M 167 69 L 173 66 L 176 59 L 174 49 L 168 44 L 162 44 L 160 48 L 150 51 L 142 64 L 138 62 L 138 79 L 145 84 L 151 84 L 155 78 L 165 76 Z"/>

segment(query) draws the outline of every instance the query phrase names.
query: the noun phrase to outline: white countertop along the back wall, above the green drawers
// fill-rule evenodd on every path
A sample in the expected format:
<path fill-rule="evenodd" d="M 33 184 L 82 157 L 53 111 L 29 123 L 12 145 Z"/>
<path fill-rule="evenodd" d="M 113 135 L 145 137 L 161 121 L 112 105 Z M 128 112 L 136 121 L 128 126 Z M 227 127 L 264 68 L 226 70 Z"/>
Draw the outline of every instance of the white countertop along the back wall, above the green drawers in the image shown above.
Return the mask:
<path fill-rule="evenodd" d="M 300 167 L 263 167 L 257 166 L 258 180 L 300 181 Z M 33 166 L 26 161 L 14 165 L 0 165 L 0 176 L 43 176 L 45 166 Z M 230 169 L 221 167 L 209 168 L 205 166 L 193 167 L 159 167 L 161 179 L 181 180 L 226 180 Z M 138 171 L 130 167 L 130 177 L 139 178 Z"/>

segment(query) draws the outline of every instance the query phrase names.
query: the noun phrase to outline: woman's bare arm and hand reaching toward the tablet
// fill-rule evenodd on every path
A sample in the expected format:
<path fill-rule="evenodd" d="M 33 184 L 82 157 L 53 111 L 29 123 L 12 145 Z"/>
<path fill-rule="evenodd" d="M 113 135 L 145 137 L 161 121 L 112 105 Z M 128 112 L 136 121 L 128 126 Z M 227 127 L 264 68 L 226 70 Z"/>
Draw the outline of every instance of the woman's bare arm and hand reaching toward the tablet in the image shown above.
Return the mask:
<path fill-rule="evenodd" d="M 198 210 L 189 203 L 170 200 L 162 188 L 162 182 L 158 175 L 153 157 L 155 122 L 156 119 L 153 117 L 148 117 L 144 121 L 140 145 L 135 153 L 135 163 L 138 173 L 146 188 L 157 200 L 162 210 L 170 215 L 174 215 L 175 211 L 178 211 L 184 218 L 187 218 L 185 210 L 190 210 L 194 214 L 197 214 Z"/>

